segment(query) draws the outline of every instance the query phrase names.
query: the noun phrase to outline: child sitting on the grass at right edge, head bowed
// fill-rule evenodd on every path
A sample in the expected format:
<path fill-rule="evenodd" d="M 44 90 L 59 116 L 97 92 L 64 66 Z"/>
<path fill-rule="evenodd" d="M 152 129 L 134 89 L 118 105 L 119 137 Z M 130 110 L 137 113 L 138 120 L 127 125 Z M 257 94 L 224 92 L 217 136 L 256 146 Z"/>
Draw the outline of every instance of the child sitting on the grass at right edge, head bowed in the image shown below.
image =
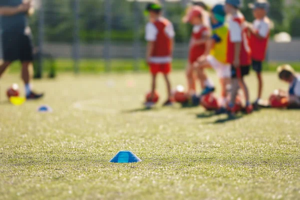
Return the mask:
<path fill-rule="evenodd" d="M 277 72 L 280 80 L 289 83 L 288 92 L 285 92 L 288 96 L 288 103 L 300 106 L 300 76 L 295 74 L 289 64 L 278 66 Z"/>

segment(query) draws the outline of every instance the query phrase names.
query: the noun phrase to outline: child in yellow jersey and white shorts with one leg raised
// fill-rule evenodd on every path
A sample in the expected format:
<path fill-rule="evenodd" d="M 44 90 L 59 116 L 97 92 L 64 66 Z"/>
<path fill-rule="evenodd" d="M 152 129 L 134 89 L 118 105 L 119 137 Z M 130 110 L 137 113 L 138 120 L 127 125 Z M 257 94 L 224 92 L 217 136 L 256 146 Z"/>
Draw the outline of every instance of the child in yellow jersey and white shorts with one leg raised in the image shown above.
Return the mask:
<path fill-rule="evenodd" d="M 198 78 L 204 81 L 205 89 L 201 95 L 214 91 L 213 83 L 204 73 L 204 68 L 215 69 L 221 84 L 221 99 L 219 112 L 226 111 L 227 85 L 230 83 L 230 64 L 226 63 L 228 27 L 225 24 L 225 12 L 222 4 L 216 4 L 211 9 L 212 37 L 207 42 L 207 51 L 194 63 Z"/>

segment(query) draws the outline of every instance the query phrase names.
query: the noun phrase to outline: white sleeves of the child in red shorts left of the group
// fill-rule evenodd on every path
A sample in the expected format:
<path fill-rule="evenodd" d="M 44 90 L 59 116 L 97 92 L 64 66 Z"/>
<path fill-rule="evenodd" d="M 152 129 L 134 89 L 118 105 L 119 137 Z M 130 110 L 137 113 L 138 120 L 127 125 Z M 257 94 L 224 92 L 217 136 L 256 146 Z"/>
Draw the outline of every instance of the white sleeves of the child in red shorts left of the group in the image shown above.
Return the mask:
<path fill-rule="evenodd" d="M 165 33 L 168 35 L 169 38 L 174 38 L 175 36 L 175 31 L 172 23 L 168 23 L 165 28 L 164 28 Z M 156 36 L 157 36 L 158 30 L 156 26 L 148 22 L 146 24 L 146 29 L 145 29 L 145 40 L 146 41 L 155 41 Z"/>

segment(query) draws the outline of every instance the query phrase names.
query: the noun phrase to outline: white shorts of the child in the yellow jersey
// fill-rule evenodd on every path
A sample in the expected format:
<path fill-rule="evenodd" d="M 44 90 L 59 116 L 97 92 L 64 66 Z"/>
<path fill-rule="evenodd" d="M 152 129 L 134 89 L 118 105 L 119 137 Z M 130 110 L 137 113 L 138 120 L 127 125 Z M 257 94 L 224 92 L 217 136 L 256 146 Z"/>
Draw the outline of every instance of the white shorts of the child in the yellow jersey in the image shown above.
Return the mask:
<path fill-rule="evenodd" d="M 212 55 L 207 56 L 207 61 L 211 67 L 216 71 L 216 74 L 219 78 L 230 78 L 231 77 L 231 67 L 230 64 L 224 64 L 218 61 Z"/>

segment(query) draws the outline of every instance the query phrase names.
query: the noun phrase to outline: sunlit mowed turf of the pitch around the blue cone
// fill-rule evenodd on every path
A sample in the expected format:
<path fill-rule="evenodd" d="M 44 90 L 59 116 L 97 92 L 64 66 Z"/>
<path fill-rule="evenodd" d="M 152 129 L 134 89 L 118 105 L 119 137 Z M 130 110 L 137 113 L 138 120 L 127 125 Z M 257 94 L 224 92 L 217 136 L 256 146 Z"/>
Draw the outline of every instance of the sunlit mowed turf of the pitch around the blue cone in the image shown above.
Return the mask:
<path fill-rule="evenodd" d="M 171 75 L 184 84 L 184 72 Z M 217 83 L 216 77 L 210 73 Z M 287 85 L 264 73 L 266 98 Z M 246 79 L 256 95 L 254 74 Z M 1 78 L 0 199 L 299 199 L 300 111 L 263 109 L 226 120 L 201 107 L 143 110 L 149 75 L 35 80 L 39 101 L 13 106 Z M 38 113 L 48 104 L 53 113 Z M 110 163 L 119 150 L 142 162 Z"/>

